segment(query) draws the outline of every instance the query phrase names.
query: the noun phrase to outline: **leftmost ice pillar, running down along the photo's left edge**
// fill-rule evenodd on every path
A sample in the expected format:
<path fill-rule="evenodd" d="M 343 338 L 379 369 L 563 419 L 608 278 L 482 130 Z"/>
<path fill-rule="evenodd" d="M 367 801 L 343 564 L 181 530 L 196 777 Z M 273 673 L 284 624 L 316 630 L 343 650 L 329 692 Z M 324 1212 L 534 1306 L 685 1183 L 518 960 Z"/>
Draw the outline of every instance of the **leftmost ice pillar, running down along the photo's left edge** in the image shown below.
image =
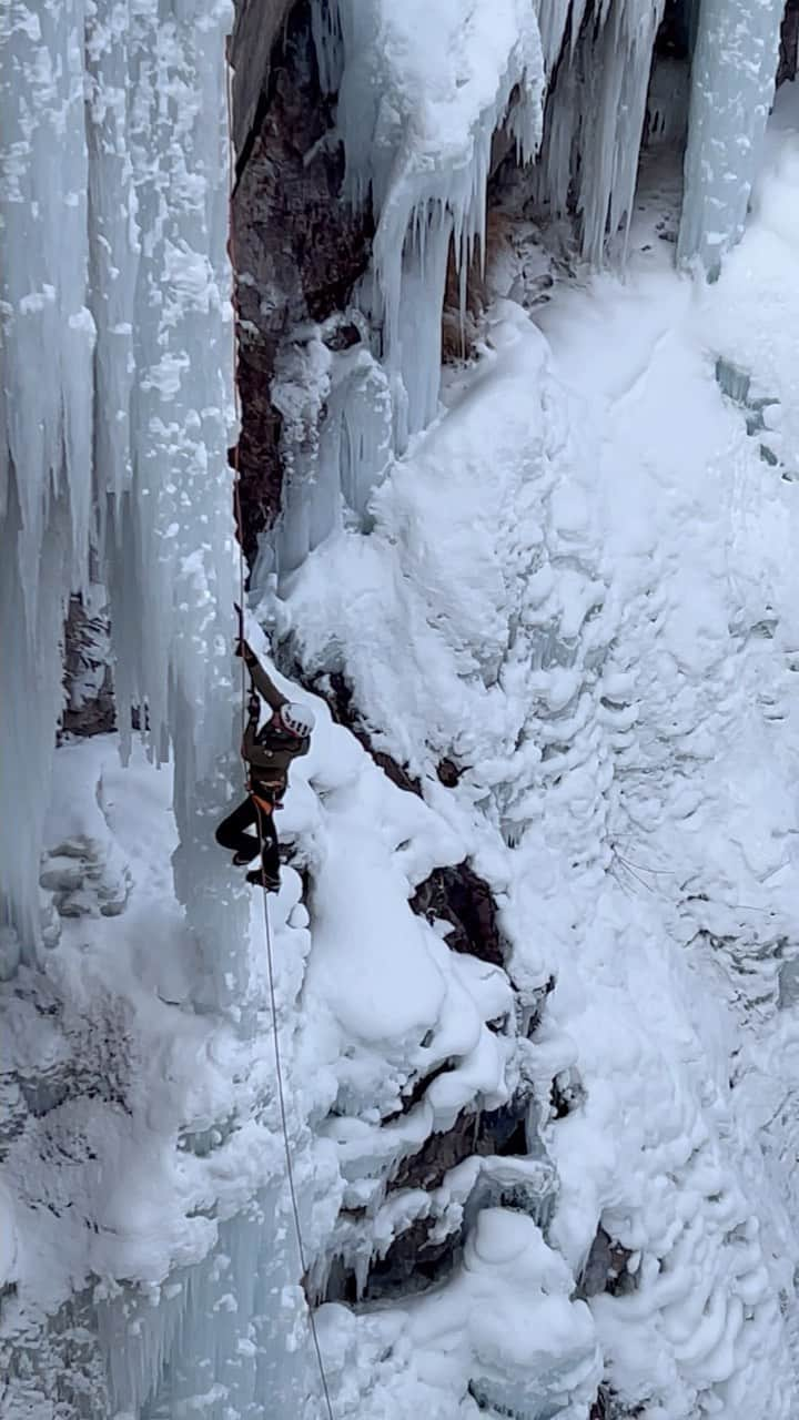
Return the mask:
<path fill-rule="evenodd" d="M 60 636 L 87 568 L 94 327 L 87 308 L 84 6 L 0 16 L 0 927 L 38 934 Z"/>

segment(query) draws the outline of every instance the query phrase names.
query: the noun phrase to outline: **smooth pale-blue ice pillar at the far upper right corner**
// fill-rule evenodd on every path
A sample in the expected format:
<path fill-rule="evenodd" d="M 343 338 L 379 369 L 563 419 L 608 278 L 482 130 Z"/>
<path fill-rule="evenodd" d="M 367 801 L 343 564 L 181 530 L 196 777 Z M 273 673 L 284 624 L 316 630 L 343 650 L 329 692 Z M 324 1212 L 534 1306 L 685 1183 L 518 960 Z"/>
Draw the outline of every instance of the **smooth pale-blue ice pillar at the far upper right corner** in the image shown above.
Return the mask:
<path fill-rule="evenodd" d="M 739 241 L 773 97 L 783 0 L 701 0 L 677 256 L 711 278 Z"/>

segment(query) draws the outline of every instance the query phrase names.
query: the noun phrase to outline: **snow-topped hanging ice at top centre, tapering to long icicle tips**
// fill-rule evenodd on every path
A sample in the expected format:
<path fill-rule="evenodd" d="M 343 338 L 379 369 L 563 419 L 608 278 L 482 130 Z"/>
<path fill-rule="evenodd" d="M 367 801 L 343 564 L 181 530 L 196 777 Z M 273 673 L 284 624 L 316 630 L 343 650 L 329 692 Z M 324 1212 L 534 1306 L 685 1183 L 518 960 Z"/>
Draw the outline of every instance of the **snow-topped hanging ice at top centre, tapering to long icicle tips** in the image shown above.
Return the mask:
<path fill-rule="evenodd" d="M 321 0 L 316 4 L 324 10 Z M 458 4 L 435 11 L 435 33 L 422 38 L 408 30 L 408 20 L 387 0 L 338 0 L 337 13 L 344 51 L 337 111 L 345 153 L 344 187 L 354 203 L 371 193 L 377 219 L 372 261 L 384 356 L 392 379 L 408 396 L 407 412 L 395 412 L 401 450 L 407 436 L 429 423 L 438 406 L 449 233 L 461 271 L 462 307 L 476 246 L 481 264 L 485 261 L 493 132 L 506 119 L 525 162 L 540 142 L 542 47 L 526 0 L 502 0 L 499 9 L 486 11 L 479 34 L 469 37 L 461 65 L 468 78 L 459 70 L 456 82 L 452 51 L 465 43 Z M 327 72 L 321 26 L 318 16 L 314 36 L 321 36 L 317 54 Z M 425 106 L 415 97 L 428 84 L 444 97 Z M 515 89 L 518 98 L 508 115 Z"/>

